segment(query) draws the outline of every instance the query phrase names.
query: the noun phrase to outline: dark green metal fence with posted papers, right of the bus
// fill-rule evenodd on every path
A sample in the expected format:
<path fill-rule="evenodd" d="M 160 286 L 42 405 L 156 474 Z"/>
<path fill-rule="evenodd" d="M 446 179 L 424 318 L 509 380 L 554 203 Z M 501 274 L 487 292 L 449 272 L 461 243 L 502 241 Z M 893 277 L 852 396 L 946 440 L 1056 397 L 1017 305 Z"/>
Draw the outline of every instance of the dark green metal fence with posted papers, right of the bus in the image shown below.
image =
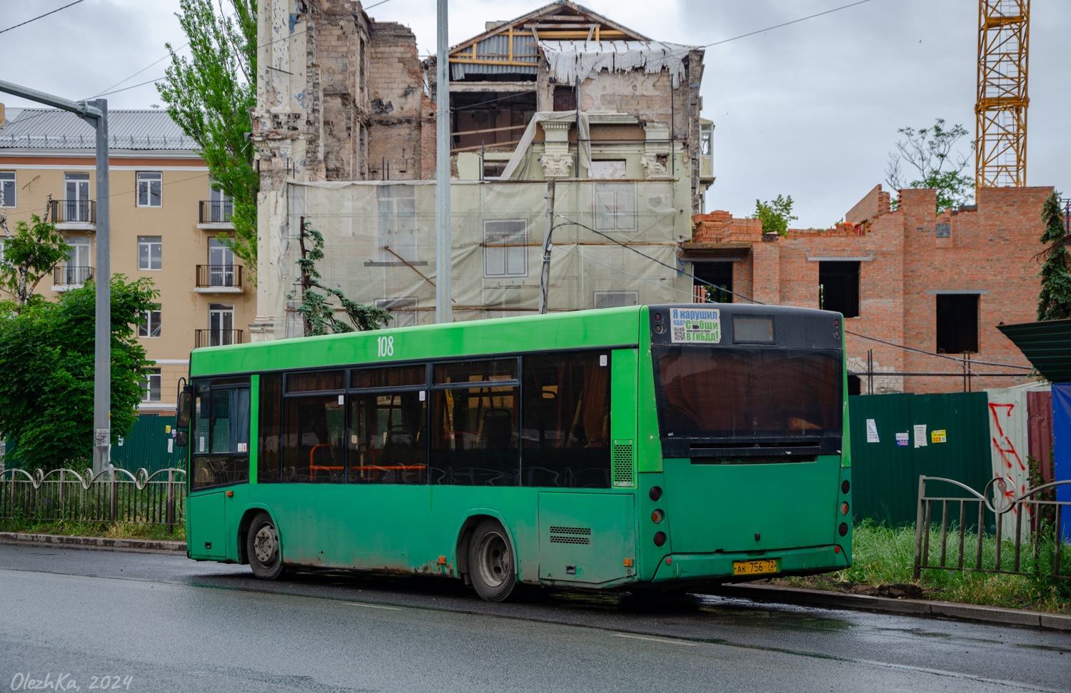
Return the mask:
<path fill-rule="evenodd" d="M 955 479 L 974 488 L 984 487 L 993 476 L 984 392 L 854 395 L 848 411 L 857 521 L 914 523 L 920 474 Z M 957 495 L 952 492 L 948 489 Z M 957 518 L 957 503 L 949 513 L 950 519 Z M 931 519 L 940 522 L 940 515 Z"/>

